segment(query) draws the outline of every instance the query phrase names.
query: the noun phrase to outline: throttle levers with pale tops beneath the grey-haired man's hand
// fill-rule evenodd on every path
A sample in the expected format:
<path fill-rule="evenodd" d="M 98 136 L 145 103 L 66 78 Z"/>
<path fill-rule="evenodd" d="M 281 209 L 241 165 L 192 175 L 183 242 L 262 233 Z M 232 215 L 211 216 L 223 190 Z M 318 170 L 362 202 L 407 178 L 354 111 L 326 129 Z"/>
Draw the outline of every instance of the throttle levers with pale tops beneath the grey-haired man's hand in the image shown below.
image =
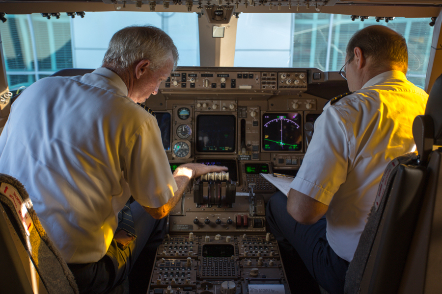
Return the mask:
<path fill-rule="evenodd" d="M 204 193 L 204 187 L 207 187 Z M 193 202 L 197 207 L 232 207 L 236 198 L 236 185 L 228 172 L 209 172 L 193 184 Z"/>

